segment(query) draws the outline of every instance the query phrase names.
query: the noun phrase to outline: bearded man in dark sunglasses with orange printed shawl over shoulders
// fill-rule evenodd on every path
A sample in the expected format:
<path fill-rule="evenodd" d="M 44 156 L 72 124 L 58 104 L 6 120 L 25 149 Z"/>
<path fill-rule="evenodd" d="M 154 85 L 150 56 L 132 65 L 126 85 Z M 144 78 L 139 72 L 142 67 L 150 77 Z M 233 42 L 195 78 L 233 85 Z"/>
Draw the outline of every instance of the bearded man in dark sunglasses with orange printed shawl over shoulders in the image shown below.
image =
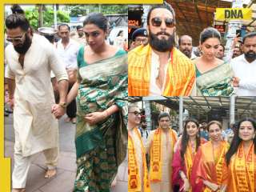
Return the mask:
<path fill-rule="evenodd" d="M 149 44 L 128 54 L 129 96 L 190 95 L 194 65 L 174 48 L 175 15 L 169 4 L 154 6 L 147 16 Z"/>

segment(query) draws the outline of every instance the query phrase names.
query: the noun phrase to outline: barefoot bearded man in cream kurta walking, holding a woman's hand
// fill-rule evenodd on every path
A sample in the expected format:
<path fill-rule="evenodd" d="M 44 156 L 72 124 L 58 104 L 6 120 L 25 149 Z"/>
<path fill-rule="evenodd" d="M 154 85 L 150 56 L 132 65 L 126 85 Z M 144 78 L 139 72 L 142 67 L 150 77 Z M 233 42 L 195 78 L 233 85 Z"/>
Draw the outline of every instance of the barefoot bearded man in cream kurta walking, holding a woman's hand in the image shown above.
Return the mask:
<path fill-rule="evenodd" d="M 16 20 L 22 21 L 18 23 L 21 26 L 13 27 Z M 27 20 L 22 15 L 12 14 L 6 18 L 7 40 L 12 42 L 6 47 L 5 56 L 10 99 L 14 99 L 13 191 L 25 191 L 33 154 L 43 151 L 48 170 L 55 169 L 58 160 L 58 120 L 51 113 L 55 102 L 50 70 L 54 71 L 62 88 L 61 102 L 64 106 L 68 86 L 65 66 L 59 61 L 53 46 L 46 38 L 32 34 L 29 25 L 24 30 L 26 26 Z M 30 42 L 28 48 L 24 46 L 27 42 Z M 16 47 L 20 48 L 20 52 Z"/>

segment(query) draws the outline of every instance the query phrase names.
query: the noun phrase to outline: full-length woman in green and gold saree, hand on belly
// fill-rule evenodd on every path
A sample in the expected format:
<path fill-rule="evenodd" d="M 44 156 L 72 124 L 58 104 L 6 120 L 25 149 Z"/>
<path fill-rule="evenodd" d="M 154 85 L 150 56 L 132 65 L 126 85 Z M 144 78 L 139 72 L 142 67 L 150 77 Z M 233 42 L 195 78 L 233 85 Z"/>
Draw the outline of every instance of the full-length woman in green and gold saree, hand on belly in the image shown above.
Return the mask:
<path fill-rule="evenodd" d="M 83 22 L 88 46 L 78 52 L 74 191 L 108 192 L 126 156 L 127 54 L 106 43 L 107 19 L 89 14 Z"/>

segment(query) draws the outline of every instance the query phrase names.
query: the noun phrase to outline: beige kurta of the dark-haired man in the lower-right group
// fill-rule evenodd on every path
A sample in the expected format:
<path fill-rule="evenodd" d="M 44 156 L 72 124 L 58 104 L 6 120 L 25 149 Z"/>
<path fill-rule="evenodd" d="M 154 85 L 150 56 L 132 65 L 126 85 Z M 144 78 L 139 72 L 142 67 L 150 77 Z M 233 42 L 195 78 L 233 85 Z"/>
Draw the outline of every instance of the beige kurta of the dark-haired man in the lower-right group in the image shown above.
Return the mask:
<path fill-rule="evenodd" d="M 150 148 L 152 147 L 152 142 L 154 139 L 154 132 L 152 130 L 150 132 L 149 137 L 146 141 L 146 152 L 150 154 Z M 162 152 L 162 179 L 161 182 L 150 182 L 151 190 L 154 192 L 172 192 L 172 185 L 171 185 L 171 174 L 172 174 L 172 160 L 173 160 L 173 151 L 174 145 L 172 145 L 172 138 L 170 138 L 170 134 L 167 131 L 164 133 L 161 132 L 161 152 Z M 172 153 L 171 153 L 172 152 Z"/>

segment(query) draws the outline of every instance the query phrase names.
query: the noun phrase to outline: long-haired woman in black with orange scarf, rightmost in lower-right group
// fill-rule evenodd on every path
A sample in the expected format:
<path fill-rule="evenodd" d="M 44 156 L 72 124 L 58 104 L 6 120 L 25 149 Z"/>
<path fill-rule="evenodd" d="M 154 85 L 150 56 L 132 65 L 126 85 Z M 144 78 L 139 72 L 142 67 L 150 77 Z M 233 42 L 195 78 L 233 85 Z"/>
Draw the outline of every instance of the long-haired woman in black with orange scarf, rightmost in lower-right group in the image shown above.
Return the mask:
<path fill-rule="evenodd" d="M 256 122 L 243 118 L 234 129 L 230 150 L 226 153 L 228 192 L 256 191 Z"/>

